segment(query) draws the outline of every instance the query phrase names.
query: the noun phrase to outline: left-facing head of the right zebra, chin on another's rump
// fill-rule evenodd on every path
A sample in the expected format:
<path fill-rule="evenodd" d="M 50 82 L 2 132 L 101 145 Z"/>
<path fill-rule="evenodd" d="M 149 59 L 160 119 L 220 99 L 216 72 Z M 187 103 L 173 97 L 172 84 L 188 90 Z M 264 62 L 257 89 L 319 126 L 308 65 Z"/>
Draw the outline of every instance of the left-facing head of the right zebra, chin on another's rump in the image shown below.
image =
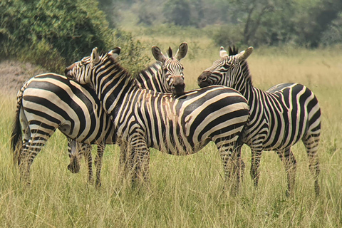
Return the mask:
<path fill-rule="evenodd" d="M 220 48 L 219 58 L 212 63 L 212 66 L 207 68 L 197 78 L 199 87 L 222 85 L 237 89 L 239 81 L 250 80 L 244 78 L 242 68 L 247 66 L 246 59 L 251 55 L 253 47 L 237 53 L 237 49 L 232 50 L 229 47 L 229 54 L 223 47 Z M 246 68 L 248 70 L 248 68 Z M 248 72 L 247 72 L 248 73 Z"/>

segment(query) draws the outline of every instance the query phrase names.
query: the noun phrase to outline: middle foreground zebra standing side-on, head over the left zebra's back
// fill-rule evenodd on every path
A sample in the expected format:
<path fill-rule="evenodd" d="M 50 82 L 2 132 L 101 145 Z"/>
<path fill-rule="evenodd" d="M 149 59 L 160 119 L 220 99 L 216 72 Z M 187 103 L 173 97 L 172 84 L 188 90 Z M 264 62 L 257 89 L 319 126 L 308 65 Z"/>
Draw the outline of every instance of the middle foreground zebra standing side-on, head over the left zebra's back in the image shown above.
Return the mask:
<path fill-rule="evenodd" d="M 115 61 L 118 53 L 120 48 L 114 48 L 100 56 L 94 48 L 91 56 L 68 67 L 66 75 L 93 88 L 113 118 L 126 176 L 134 183 L 148 182 L 149 147 L 190 155 L 213 141 L 226 183 L 229 175 L 237 177 L 231 185 L 231 190 L 237 190 L 241 160 L 236 151 L 249 118 L 244 96 L 224 86 L 188 90 L 177 97 L 139 88 Z"/>

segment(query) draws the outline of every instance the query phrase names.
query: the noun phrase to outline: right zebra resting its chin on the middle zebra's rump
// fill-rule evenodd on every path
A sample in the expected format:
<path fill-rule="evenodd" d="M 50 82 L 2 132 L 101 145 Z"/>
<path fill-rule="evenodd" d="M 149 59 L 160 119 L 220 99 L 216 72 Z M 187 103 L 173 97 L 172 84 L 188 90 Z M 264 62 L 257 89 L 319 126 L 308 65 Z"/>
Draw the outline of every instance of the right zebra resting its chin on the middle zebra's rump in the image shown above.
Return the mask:
<path fill-rule="evenodd" d="M 299 83 L 281 83 L 263 91 L 252 84 L 246 59 L 252 53 L 249 47 L 241 53 L 229 48 L 231 56 L 220 48 L 219 58 L 197 78 L 199 87 L 222 85 L 237 89 L 250 106 L 250 118 L 243 142 L 252 150 L 250 174 L 254 185 L 259 181 L 259 164 L 262 150 L 276 150 L 286 167 L 287 195 L 293 194 L 296 159 L 291 146 L 304 142 L 309 156 L 309 168 L 314 175 L 316 195 L 318 185 L 318 142 L 321 133 L 321 109 L 314 93 Z"/>

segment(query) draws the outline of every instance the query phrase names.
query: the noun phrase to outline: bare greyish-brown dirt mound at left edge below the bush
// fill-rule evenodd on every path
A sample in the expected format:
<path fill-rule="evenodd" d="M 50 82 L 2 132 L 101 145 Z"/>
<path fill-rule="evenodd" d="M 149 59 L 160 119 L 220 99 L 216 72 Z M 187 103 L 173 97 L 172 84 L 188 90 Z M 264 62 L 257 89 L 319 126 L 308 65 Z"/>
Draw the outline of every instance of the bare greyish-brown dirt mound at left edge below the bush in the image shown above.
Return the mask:
<path fill-rule="evenodd" d="M 0 62 L 0 93 L 5 95 L 16 95 L 24 82 L 29 78 L 46 71 L 31 63 L 19 61 Z"/>

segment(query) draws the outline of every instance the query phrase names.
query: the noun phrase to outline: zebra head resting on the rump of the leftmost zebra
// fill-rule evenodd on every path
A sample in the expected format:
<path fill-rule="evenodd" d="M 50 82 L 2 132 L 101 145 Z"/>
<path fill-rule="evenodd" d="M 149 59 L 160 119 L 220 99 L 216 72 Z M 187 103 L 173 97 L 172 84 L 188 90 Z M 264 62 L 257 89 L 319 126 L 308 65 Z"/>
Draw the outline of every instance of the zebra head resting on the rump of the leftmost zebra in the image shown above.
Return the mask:
<path fill-rule="evenodd" d="M 100 68 L 104 68 L 113 62 L 117 62 L 116 58 L 120 55 L 121 48 L 116 47 L 112 51 L 100 56 L 98 48 L 93 48 L 90 56 L 86 56 L 76 63 L 68 66 L 64 73 L 68 78 L 71 78 L 82 85 L 88 84 L 95 86 L 95 73 L 98 73 Z"/>

